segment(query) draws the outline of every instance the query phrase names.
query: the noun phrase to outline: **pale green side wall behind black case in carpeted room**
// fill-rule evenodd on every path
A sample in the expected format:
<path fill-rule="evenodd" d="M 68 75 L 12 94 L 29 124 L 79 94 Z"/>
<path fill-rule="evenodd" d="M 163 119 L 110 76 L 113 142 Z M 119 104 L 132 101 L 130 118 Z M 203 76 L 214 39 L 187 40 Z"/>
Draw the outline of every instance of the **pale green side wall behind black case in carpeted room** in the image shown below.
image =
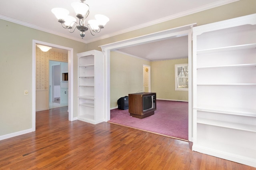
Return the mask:
<path fill-rule="evenodd" d="M 112 51 L 110 57 L 110 108 L 120 97 L 143 91 L 143 64 L 150 61 Z"/>

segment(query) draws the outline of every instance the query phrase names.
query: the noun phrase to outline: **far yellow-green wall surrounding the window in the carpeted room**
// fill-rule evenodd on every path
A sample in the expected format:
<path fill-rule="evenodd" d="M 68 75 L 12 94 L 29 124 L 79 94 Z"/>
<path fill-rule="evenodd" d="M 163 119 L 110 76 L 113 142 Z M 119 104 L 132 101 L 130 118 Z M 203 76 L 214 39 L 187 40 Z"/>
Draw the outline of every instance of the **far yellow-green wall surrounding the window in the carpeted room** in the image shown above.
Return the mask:
<path fill-rule="evenodd" d="M 188 101 L 188 91 L 175 91 L 174 65 L 188 63 L 188 58 L 151 62 L 151 91 L 157 99 Z"/>

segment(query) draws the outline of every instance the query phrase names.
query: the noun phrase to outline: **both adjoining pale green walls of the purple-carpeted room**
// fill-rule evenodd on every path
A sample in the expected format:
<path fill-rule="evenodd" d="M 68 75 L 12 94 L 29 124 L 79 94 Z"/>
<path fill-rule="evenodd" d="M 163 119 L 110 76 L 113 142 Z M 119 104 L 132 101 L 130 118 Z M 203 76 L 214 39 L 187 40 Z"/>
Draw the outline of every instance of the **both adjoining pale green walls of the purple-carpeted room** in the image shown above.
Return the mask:
<path fill-rule="evenodd" d="M 151 65 L 151 92 L 158 99 L 188 101 L 188 91 L 175 91 L 174 65 L 188 63 L 188 58 L 147 61 L 115 51 L 110 57 L 110 108 L 120 97 L 143 91 L 143 65 Z"/>

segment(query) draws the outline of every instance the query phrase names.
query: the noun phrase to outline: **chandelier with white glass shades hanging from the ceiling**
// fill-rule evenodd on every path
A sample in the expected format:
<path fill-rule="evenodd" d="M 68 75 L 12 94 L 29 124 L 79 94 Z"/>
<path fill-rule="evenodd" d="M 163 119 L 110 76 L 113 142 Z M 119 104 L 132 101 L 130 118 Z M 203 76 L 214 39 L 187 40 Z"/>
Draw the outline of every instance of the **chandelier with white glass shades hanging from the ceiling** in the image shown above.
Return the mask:
<path fill-rule="evenodd" d="M 62 27 L 68 29 L 70 33 L 73 33 L 77 28 L 80 31 L 80 36 L 84 38 L 87 30 L 90 30 L 91 34 L 94 36 L 96 33 L 100 32 L 102 28 L 109 21 L 109 18 L 102 15 L 96 14 L 96 20 L 89 20 L 88 24 L 85 24 L 85 20 L 89 15 L 90 7 L 88 4 L 84 3 L 85 0 L 81 0 L 81 2 L 72 2 L 71 6 L 74 8 L 76 12 L 76 17 L 79 19 L 79 22 L 76 22 L 76 18 L 69 16 L 69 11 L 64 8 L 53 8 L 52 13 L 58 19 L 58 22 L 61 23 Z M 76 23 L 76 26 L 74 24 Z M 74 26 L 74 28 L 73 28 Z M 72 30 L 73 29 L 73 30 Z"/>

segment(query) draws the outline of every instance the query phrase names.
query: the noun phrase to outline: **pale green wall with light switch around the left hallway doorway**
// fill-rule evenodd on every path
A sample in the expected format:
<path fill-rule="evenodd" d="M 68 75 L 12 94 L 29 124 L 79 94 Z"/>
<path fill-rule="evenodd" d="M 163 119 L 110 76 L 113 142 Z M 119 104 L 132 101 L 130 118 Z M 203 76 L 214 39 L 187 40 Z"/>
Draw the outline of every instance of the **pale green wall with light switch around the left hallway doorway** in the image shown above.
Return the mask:
<path fill-rule="evenodd" d="M 5 20 L 0 20 L 0 136 L 32 128 L 32 40 L 74 48 L 74 77 L 77 77 L 76 53 L 85 51 L 77 42 Z M 77 79 L 74 79 L 76 102 Z M 28 95 L 24 95 L 28 90 Z M 74 104 L 76 106 L 76 103 Z M 74 108 L 74 114 L 77 107 Z"/>

